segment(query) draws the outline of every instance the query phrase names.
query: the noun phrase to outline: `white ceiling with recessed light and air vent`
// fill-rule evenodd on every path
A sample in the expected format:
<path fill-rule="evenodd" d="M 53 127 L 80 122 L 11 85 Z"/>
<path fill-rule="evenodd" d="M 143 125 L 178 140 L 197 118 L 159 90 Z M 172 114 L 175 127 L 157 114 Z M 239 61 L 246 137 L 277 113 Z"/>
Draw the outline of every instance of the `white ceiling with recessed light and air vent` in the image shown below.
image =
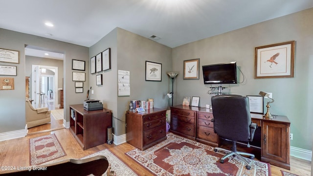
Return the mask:
<path fill-rule="evenodd" d="M 1 0 L 0 28 L 90 47 L 120 27 L 177 47 L 312 7 L 313 0 Z"/>

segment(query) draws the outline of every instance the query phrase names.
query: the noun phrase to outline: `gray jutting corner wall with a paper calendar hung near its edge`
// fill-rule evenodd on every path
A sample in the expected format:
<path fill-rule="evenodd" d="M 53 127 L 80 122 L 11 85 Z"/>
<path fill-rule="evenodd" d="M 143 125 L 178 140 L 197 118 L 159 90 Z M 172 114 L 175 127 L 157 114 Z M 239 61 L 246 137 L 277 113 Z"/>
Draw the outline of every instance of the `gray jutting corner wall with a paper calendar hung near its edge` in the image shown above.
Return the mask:
<path fill-rule="evenodd" d="M 89 58 L 111 48 L 111 70 L 90 75 L 93 99 L 99 99 L 113 112 L 115 135 L 125 134 L 125 113 L 130 100 L 153 98 L 156 108 L 167 108 L 169 91 L 167 72 L 172 71 L 172 49 L 121 28 L 115 28 L 89 48 Z M 162 81 L 145 81 L 145 61 L 162 64 Z M 118 97 L 117 70 L 130 71 L 131 95 Z M 103 86 L 95 86 L 95 75 L 103 74 Z M 117 120 L 117 119 L 119 120 Z M 122 122 L 123 121 L 123 122 Z"/>

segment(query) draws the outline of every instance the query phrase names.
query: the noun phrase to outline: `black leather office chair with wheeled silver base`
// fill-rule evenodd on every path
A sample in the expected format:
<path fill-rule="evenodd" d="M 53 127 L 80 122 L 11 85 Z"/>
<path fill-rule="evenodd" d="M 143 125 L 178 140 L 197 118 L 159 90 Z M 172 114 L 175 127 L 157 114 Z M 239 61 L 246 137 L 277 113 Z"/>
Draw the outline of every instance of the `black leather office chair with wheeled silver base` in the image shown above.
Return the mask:
<path fill-rule="evenodd" d="M 229 152 L 221 158 L 224 159 L 236 155 L 246 163 L 246 169 L 250 170 L 251 165 L 242 155 L 254 158 L 254 154 L 238 152 L 236 141 L 252 141 L 254 132 L 257 128 L 255 123 L 251 123 L 249 100 L 241 95 L 216 95 L 211 98 L 214 119 L 214 132 L 220 137 L 231 140 L 233 146 L 231 151 L 222 148 L 215 148 L 214 151 L 222 150 Z"/>

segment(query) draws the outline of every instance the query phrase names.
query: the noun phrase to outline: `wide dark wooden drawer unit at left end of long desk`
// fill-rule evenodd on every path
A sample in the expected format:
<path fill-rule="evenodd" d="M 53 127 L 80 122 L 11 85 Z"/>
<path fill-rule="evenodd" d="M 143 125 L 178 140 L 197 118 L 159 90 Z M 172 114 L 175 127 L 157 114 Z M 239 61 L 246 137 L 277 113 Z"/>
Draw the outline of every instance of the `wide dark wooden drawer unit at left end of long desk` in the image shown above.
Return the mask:
<path fill-rule="evenodd" d="M 196 140 L 196 111 L 171 107 L 170 131 Z"/>

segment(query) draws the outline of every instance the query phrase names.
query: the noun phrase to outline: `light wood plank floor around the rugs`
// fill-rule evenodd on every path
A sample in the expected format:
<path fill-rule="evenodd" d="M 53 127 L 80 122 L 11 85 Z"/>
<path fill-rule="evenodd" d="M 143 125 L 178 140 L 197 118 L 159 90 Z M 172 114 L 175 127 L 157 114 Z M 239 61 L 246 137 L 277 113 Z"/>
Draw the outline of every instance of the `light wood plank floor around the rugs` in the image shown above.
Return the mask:
<path fill-rule="evenodd" d="M 55 133 L 67 154 L 66 156 L 55 159 L 55 161 L 70 158 L 81 158 L 104 149 L 109 149 L 113 154 L 118 156 L 122 161 L 124 161 L 124 163 L 132 168 L 138 175 L 152 176 L 149 171 L 125 155 L 126 152 L 134 149 L 132 145 L 128 143 L 123 143 L 118 146 L 114 144 L 103 144 L 83 151 L 68 129 L 36 133 L 17 139 L 0 141 L 0 166 L 29 166 L 29 139 L 50 133 Z M 282 176 L 280 170 L 285 170 L 299 176 L 311 176 L 311 161 L 306 161 L 291 156 L 290 171 L 272 165 L 270 170 L 272 176 Z"/>

